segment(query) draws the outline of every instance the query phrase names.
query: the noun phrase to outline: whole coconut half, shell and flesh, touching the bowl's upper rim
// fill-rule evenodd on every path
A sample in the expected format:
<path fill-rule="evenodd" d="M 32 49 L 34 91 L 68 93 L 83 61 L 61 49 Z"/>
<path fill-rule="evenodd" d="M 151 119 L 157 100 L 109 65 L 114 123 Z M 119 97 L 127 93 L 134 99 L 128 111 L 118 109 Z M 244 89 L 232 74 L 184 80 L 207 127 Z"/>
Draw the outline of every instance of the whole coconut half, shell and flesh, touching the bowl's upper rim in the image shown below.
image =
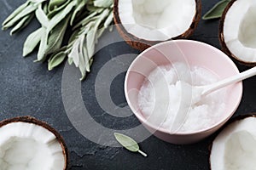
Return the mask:
<path fill-rule="evenodd" d="M 133 48 L 191 36 L 201 17 L 201 0 L 115 0 L 113 19 Z"/>

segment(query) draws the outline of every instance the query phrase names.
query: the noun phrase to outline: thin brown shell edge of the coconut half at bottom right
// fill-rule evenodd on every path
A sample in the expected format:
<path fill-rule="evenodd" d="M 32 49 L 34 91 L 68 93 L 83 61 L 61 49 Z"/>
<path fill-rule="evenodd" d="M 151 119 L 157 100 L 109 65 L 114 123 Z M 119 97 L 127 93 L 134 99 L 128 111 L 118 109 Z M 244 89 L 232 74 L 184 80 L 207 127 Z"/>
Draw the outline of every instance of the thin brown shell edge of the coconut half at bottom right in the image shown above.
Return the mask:
<path fill-rule="evenodd" d="M 256 118 L 256 113 L 251 113 L 251 114 L 247 114 L 247 115 L 239 115 L 239 116 L 236 116 L 232 119 L 230 119 L 230 121 L 228 121 L 223 127 L 221 127 L 219 130 L 218 130 L 218 133 L 221 133 L 225 127 L 228 127 L 231 123 L 233 122 L 236 122 L 236 121 L 241 121 L 242 119 L 245 119 L 245 118 L 248 118 L 248 117 L 255 117 Z M 210 151 L 210 154 L 209 154 L 209 163 L 210 163 L 210 169 L 212 169 L 211 167 L 211 159 L 210 159 L 210 156 L 212 155 L 212 144 L 213 144 L 213 141 L 217 138 L 218 134 L 214 137 L 214 139 L 212 140 L 212 143 L 209 145 L 209 151 Z"/>

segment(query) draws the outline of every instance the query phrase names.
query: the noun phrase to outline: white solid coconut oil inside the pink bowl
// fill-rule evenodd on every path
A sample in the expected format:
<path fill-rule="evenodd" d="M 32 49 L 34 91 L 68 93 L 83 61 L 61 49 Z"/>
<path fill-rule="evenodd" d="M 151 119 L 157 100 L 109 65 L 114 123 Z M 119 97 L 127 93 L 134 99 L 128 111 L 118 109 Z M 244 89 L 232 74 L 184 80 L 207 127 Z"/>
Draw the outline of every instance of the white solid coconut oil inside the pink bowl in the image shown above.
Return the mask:
<path fill-rule="evenodd" d="M 218 77 L 205 68 L 189 68 L 183 63 L 158 66 L 145 79 L 138 94 L 139 108 L 148 122 L 170 132 L 173 129 L 191 132 L 217 123 L 224 115 L 226 89 L 219 89 L 193 103 L 191 91 L 182 88 L 181 81 L 203 86 L 217 82 Z"/>

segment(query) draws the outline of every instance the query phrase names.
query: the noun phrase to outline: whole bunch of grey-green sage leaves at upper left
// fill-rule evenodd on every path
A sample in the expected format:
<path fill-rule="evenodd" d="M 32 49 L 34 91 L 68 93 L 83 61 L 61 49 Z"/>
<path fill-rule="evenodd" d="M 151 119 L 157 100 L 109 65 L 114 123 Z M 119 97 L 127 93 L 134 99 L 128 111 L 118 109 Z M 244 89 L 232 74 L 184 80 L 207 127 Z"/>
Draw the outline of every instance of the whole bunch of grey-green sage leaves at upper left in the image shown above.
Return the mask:
<path fill-rule="evenodd" d="M 98 38 L 113 21 L 113 0 L 27 0 L 3 21 L 2 29 L 13 27 L 10 34 L 14 34 L 34 16 L 41 27 L 26 38 L 23 56 L 39 47 L 35 61 L 48 60 L 50 71 L 68 59 L 79 68 L 83 80 L 90 71 Z M 65 45 L 67 28 L 73 33 Z"/>

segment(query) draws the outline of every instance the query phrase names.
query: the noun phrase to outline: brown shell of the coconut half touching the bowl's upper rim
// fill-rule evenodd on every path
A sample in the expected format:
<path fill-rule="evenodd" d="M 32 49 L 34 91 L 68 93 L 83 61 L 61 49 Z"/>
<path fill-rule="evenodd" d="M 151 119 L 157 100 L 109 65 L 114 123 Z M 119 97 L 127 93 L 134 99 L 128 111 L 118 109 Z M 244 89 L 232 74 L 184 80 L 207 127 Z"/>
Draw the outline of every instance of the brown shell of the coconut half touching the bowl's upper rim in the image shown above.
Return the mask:
<path fill-rule="evenodd" d="M 187 38 L 194 33 L 195 28 L 197 27 L 199 20 L 201 19 L 201 0 L 195 0 L 195 3 L 196 3 L 196 13 L 195 13 L 193 22 L 189 26 L 189 29 L 185 31 L 183 34 L 177 37 L 172 37 L 169 40 Z M 147 49 L 156 43 L 162 42 L 162 41 L 148 41 L 145 39 L 141 39 L 132 35 L 128 31 L 126 31 L 125 27 L 122 25 L 122 22 L 119 18 L 119 0 L 114 0 L 113 20 L 114 20 L 115 26 L 117 27 L 117 30 L 119 31 L 120 36 L 123 37 L 125 42 L 131 45 L 132 48 L 136 48 L 138 50 L 143 51 L 144 49 Z M 169 41 L 169 40 L 166 40 L 166 41 Z"/>

